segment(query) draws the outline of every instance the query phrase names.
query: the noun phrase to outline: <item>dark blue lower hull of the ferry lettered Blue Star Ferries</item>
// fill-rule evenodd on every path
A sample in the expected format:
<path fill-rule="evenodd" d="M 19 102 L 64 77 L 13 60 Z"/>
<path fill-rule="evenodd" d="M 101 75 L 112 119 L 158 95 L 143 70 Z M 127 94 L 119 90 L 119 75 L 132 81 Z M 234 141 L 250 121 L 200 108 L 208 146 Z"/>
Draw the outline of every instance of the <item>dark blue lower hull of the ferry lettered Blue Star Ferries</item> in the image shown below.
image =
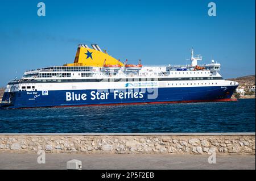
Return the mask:
<path fill-rule="evenodd" d="M 178 103 L 178 102 L 211 102 L 231 100 L 236 86 L 209 86 L 209 87 L 171 87 L 159 88 L 158 96 L 152 97 L 152 93 L 145 91 L 139 94 L 139 90 L 126 90 L 133 92 L 133 96 L 124 98 L 119 96 L 123 90 L 109 90 L 96 96 L 100 90 L 61 90 L 61 91 L 19 91 L 5 92 L 2 100 L 9 103 L 1 104 L 1 108 L 27 108 L 27 107 L 56 107 L 56 106 L 86 106 L 104 104 L 143 104 L 143 103 Z M 138 94 L 134 94 L 138 92 Z M 94 94 L 92 94 L 94 93 Z M 118 94 L 117 94 L 118 93 Z M 121 94 L 123 95 L 123 94 Z M 135 96 L 134 96 L 135 95 Z"/>

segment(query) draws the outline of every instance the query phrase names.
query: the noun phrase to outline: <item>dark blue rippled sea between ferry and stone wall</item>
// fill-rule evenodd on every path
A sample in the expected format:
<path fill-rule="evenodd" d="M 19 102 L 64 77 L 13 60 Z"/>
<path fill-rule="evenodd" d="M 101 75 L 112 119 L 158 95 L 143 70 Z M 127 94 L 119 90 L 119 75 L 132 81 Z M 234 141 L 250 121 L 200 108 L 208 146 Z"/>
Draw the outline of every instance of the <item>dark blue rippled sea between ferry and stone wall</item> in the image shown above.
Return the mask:
<path fill-rule="evenodd" d="M 0 132 L 255 132 L 255 99 L 0 110 Z"/>

